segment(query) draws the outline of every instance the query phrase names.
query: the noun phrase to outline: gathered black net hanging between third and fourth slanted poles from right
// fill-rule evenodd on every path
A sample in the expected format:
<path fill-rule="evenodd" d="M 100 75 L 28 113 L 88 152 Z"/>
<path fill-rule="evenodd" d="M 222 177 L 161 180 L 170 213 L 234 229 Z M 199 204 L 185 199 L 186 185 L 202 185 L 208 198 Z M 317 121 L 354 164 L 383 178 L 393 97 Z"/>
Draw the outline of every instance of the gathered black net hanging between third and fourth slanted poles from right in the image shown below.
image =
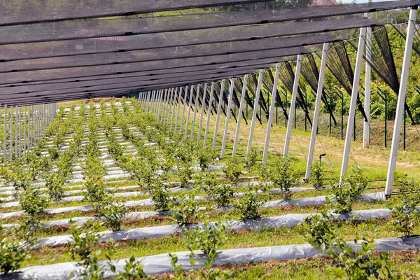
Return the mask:
<path fill-rule="evenodd" d="M 302 60 L 302 69 L 301 69 L 302 76 L 307 80 L 307 83 L 311 87 L 314 92 L 318 91 L 318 80 L 319 80 L 319 71 L 318 67 L 316 66 L 316 62 L 314 59 L 314 55 L 305 55 Z M 323 104 L 325 104 L 325 108 L 327 109 L 328 113 L 334 122 L 334 125 L 337 125 L 337 120 L 335 120 L 334 113 L 332 113 L 332 109 L 330 104 L 328 103 L 328 97 L 323 90 L 321 95 L 321 100 Z"/>

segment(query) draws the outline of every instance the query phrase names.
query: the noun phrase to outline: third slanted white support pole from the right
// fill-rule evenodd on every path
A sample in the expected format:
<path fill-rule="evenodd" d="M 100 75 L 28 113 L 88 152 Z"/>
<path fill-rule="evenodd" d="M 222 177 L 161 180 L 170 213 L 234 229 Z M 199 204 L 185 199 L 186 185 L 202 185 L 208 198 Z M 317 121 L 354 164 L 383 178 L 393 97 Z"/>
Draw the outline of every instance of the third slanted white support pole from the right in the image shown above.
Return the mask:
<path fill-rule="evenodd" d="M 321 98 L 323 94 L 323 83 L 324 83 L 324 78 L 325 78 L 325 68 L 327 64 L 328 45 L 329 45 L 328 43 L 324 43 L 323 50 L 322 50 L 321 69 L 319 71 L 320 73 L 319 73 L 319 80 L 318 80 L 318 90 L 316 91 L 314 120 L 312 122 L 313 124 L 312 124 L 312 132 L 311 132 L 311 141 L 309 144 L 307 169 L 304 176 L 304 181 L 306 182 L 308 182 L 309 179 L 311 178 L 311 167 L 312 167 L 312 160 L 314 159 L 316 132 L 318 130 L 318 118 L 319 118 L 319 111 L 321 109 Z"/>

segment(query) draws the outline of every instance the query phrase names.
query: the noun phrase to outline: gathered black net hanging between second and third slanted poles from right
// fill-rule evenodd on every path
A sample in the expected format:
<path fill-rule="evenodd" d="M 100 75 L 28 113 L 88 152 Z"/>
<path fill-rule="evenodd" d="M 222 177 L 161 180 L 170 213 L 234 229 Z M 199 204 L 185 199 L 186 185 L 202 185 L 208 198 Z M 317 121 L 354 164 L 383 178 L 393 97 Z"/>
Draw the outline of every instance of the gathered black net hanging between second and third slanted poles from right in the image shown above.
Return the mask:
<path fill-rule="evenodd" d="M 337 78 L 340 85 L 344 87 L 344 90 L 351 96 L 354 74 L 344 42 L 332 43 L 332 48 L 328 50 L 327 67 L 330 69 L 332 75 Z M 365 109 L 363 109 L 359 93 L 357 93 L 357 106 L 360 113 L 362 113 L 363 118 L 367 121 Z"/>

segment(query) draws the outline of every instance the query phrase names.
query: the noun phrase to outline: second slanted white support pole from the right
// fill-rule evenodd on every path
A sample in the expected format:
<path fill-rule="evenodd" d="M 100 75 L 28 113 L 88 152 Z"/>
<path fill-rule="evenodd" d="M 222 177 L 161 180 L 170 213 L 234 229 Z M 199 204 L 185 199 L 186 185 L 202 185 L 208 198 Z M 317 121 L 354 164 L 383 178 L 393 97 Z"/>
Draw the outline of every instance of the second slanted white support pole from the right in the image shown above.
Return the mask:
<path fill-rule="evenodd" d="M 366 27 L 360 28 L 360 36 L 358 42 L 356 69 L 354 70 L 353 90 L 351 92 L 351 102 L 349 109 L 349 120 L 347 122 L 346 141 L 344 143 L 344 153 L 342 161 L 342 169 L 339 176 L 339 183 L 342 183 L 344 174 L 347 173 L 349 165 L 351 137 L 353 136 L 354 116 L 356 116 L 356 102 L 358 97 L 358 86 L 360 82 L 360 72 L 362 71 L 363 49 L 365 48 Z"/>

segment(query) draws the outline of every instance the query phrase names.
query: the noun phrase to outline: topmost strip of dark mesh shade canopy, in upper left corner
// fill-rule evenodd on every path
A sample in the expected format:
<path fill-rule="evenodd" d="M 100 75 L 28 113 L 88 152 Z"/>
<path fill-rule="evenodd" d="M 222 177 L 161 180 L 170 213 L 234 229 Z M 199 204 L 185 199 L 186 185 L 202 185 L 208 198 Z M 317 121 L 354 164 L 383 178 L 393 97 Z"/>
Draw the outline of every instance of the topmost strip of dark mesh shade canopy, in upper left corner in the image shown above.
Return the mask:
<path fill-rule="evenodd" d="M 206 8 L 214 6 L 255 3 L 267 0 L 70 0 L 0 2 L 1 25 L 76 20 L 83 18 L 111 17 L 155 13 L 167 10 Z"/>

